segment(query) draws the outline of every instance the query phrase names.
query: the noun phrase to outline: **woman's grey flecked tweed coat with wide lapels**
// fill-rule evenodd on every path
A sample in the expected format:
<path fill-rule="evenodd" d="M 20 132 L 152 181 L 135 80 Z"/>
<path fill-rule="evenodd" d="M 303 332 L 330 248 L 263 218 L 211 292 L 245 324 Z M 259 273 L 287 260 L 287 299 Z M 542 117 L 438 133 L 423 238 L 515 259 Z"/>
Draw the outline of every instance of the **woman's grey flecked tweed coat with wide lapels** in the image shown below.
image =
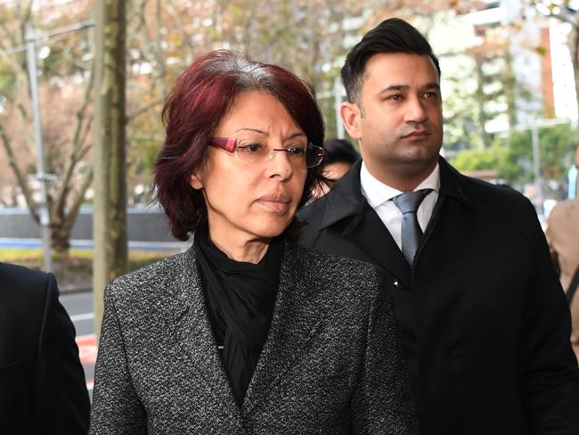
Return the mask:
<path fill-rule="evenodd" d="M 265 347 L 236 405 L 194 250 L 110 283 L 91 433 L 415 434 L 392 300 L 374 267 L 288 242 Z"/>

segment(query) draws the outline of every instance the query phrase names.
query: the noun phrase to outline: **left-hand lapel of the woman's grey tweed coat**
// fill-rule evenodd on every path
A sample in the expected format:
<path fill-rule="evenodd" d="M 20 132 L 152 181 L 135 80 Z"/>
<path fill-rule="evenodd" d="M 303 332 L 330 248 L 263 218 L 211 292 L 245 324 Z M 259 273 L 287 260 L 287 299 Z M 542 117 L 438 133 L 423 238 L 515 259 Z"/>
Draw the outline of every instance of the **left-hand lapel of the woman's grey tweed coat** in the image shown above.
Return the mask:
<path fill-rule="evenodd" d="M 240 410 L 233 398 L 209 324 L 193 247 L 183 253 L 177 267 L 176 281 L 164 286 L 171 294 L 167 310 L 170 320 L 167 324 L 172 326 L 178 345 L 191 359 L 197 375 L 202 380 L 201 386 L 241 425 Z"/>

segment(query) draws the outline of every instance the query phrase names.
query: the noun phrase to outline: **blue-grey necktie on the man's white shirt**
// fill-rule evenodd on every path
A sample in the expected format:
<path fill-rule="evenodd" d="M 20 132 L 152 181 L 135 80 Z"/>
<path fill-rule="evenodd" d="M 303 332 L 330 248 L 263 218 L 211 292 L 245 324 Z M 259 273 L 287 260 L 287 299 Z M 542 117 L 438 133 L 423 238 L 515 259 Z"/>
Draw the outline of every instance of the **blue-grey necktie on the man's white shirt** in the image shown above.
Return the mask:
<path fill-rule="evenodd" d="M 402 255 L 411 267 L 422 239 L 422 229 L 416 217 L 416 210 L 430 192 L 432 189 L 421 189 L 416 192 L 405 192 L 393 198 L 396 207 L 402 211 Z"/>

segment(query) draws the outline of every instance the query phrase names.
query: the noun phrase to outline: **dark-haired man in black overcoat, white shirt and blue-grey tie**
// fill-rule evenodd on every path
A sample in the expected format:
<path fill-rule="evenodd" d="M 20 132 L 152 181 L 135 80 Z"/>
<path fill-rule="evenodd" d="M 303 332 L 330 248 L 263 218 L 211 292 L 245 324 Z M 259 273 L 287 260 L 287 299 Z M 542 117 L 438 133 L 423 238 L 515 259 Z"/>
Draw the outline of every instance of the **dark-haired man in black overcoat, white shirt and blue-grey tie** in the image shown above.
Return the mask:
<path fill-rule="evenodd" d="M 425 433 L 579 433 L 569 309 L 545 237 L 522 195 L 439 156 L 440 69 L 426 39 L 384 21 L 342 79 L 363 160 L 302 210 L 302 242 L 389 274 Z"/>

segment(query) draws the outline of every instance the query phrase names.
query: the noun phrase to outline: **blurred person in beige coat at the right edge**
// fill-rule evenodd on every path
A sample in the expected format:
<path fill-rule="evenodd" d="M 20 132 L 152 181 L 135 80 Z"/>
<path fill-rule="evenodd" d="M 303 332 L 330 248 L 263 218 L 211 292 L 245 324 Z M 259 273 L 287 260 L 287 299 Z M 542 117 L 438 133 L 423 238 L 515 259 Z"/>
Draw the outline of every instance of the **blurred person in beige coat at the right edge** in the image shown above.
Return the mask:
<path fill-rule="evenodd" d="M 579 145 L 575 150 L 575 166 L 579 167 Z M 559 270 L 559 279 L 567 292 L 571 308 L 571 343 L 579 358 L 579 196 L 559 202 L 550 212 L 547 226 L 551 258 Z"/>

